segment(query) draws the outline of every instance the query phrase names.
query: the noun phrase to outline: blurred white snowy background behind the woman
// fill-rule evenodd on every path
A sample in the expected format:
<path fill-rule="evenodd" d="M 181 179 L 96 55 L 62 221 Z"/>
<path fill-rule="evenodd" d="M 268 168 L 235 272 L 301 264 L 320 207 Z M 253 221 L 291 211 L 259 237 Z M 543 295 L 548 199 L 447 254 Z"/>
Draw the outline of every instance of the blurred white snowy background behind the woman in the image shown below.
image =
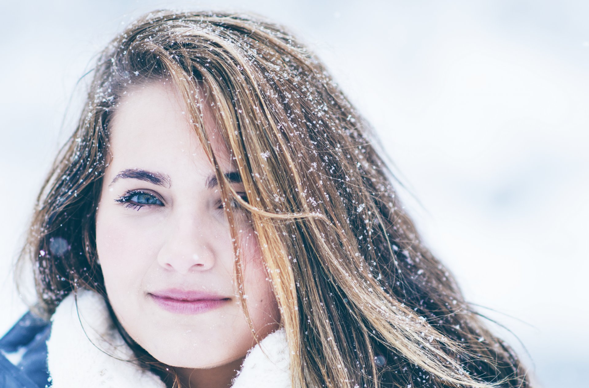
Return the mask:
<path fill-rule="evenodd" d="M 401 193 L 424 240 L 466 298 L 519 337 L 493 326 L 538 386 L 587 387 L 589 2 L 580 0 L 3 2 L 0 333 L 27 310 L 11 266 L 73 129 L 84 91 L 75 84 L 108 40 L 155 8 L 253 11 L 289 26 L 372 122 L 419 200 Z"/>

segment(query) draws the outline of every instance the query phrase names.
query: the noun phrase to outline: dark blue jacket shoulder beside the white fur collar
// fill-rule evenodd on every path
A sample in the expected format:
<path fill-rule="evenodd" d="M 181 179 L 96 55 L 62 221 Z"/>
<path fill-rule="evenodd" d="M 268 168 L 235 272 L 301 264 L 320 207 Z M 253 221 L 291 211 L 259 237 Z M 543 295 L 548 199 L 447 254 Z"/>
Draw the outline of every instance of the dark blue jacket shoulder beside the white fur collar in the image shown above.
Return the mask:
<path fill-rule="evenodd" d="M 50 333 L 51 322 L 31 311 L 8 330 L 0 339 L 0 388 L 51 386 L 45 342 Z"/>

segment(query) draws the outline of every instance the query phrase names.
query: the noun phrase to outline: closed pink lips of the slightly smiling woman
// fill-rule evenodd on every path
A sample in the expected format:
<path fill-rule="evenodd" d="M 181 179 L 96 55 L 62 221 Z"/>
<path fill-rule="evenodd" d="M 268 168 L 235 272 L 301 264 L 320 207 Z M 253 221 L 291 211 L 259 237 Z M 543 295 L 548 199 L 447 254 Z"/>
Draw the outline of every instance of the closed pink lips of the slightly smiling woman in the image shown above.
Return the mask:
<path fill-rule="evenodd" d="M 204 293 L 202 291 L 183 291 L 177 288 L 148 293 L 162 309 L 176 314 L 198 314 L 223 306 L 229 297 Z"/>

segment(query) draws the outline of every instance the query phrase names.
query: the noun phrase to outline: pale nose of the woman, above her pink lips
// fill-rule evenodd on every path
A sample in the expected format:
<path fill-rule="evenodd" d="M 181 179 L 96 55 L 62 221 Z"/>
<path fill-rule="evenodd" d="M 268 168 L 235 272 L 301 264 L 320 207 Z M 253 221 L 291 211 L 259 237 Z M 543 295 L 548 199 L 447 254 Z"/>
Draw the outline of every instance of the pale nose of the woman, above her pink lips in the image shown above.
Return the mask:
<path fill-rule="evenodd" d="M 215 264 L 214 236 L 209 236 L 203 221 L 184 214 L 169 230 L 157 255 L 160 266 L 178 273 L 206 271 Z"/>

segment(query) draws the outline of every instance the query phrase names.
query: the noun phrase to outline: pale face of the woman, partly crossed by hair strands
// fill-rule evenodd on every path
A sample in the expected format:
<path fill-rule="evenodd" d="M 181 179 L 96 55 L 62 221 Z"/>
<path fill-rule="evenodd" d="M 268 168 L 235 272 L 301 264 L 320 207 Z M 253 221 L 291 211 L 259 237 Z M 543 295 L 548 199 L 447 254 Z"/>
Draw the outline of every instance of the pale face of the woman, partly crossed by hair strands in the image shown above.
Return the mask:
<path fill-rule="evenodd" d="M 245 197 L 204 105 L 220 170 Z M 175 89 L 161 82 L 122 98 L 110 125 L 112 158 L 96 244 L 108 299 L 128 334 L 160 362 L 207 369 L 243 358 L 255 341 L 233 281 L 235 258 L 214 168 L 185 112 Z M 239 208 L 235 213 L 244 294 L 262 339 L 277 329 L 279 309 L 253 228 Z"/>

